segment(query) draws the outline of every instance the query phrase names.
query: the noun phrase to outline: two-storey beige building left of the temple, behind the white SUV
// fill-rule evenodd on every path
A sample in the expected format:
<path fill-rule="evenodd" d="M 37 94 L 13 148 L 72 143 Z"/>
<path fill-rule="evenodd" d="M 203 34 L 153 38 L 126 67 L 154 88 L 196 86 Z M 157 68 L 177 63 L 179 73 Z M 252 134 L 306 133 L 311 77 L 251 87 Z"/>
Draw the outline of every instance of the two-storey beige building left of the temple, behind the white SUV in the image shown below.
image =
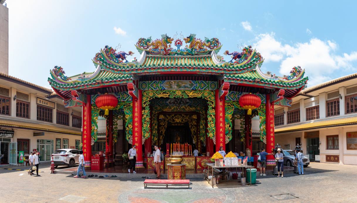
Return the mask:
<path fill-rule="evenodd" d="M 19 151 L 37 149 L 50 161 L 56 149 L 79 149 L 81 117 L 51 89 L 0 73 L 0 164 L 16 164 Z"/>

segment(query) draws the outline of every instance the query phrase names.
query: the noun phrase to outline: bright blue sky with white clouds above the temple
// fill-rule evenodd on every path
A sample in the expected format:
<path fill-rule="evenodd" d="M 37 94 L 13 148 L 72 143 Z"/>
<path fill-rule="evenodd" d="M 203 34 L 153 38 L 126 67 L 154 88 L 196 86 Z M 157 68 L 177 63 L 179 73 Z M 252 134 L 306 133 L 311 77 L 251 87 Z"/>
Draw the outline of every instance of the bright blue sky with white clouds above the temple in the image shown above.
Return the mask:
<path fill-rule="evenodd" d="M 355 1 L 6 2 L 9 74 L 44 87 L 54 66 L 67 76 L 94 71 L 91 59 L 105 45 L 139 58 L 138 38 L 181 31 L 217 37 L 221 55 L 252 45 L 263 71 L 280 76 L 301 66 L 308 86 L 357 72 Z"/>

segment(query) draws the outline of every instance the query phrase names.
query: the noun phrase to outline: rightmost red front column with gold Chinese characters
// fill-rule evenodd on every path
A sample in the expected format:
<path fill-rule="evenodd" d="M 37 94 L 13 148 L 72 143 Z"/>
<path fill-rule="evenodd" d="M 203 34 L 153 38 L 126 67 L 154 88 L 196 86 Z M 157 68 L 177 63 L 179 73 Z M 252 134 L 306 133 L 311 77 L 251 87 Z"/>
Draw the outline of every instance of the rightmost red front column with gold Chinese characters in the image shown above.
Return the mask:
<path fill-rule="evenodd" d="M 274 104 L 270 103 L 270 94 L 266 95 L 266 104 L 265 104 L 265 116 L 266 116 L 266 149 L 265 151 L 268 153 L 272 153 L 274 149 Z M 275 165 L 274 156 L 267 156 L 267 165 Z"/>

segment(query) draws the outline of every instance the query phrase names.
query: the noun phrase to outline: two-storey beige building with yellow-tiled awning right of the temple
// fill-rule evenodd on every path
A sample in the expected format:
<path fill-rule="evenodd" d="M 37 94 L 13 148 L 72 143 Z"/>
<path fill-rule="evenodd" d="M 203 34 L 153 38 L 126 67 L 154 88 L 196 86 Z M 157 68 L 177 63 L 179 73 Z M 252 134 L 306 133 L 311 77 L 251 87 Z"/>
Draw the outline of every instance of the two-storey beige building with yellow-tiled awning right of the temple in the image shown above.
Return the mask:
<path fill-rule="evenodd" d="M 275 108 L 275 141 L 310 160 L 357 165 L 357 73 L 301 91 Z"/>

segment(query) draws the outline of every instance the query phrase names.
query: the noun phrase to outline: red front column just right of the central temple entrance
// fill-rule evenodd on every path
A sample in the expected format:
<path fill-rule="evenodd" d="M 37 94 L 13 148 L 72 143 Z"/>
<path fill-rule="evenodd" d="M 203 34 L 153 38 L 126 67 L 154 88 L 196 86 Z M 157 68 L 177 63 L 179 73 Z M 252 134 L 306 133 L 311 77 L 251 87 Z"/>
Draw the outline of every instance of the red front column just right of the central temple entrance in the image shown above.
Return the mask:
<path fill-rule="evenodd" d="M 220 99 L 219 89 L 216 89 L 216 151 L 223 147 L 226 150 L 226 120 L 225 120 L 225 99 Z"/>

